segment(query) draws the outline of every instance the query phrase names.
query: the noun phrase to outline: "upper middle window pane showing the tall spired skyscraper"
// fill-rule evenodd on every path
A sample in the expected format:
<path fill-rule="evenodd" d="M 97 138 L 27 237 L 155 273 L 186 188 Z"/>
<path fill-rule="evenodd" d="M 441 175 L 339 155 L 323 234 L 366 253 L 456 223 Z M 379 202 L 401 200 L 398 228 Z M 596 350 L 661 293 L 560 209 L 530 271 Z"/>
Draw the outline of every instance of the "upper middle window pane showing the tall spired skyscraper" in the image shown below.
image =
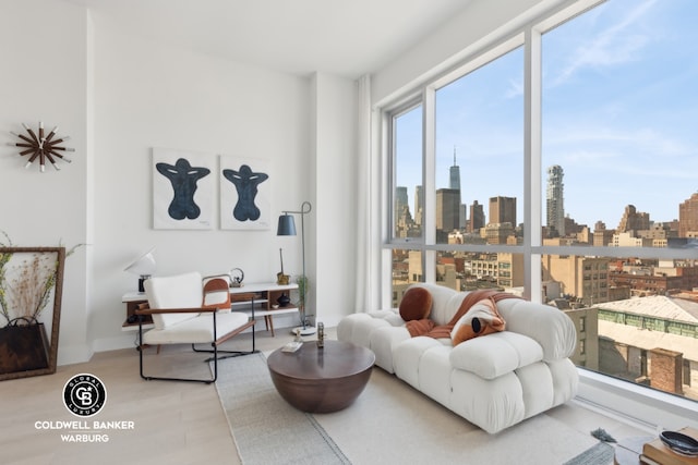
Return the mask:
<path fill-rule="evenodd" d="M 521 242 L 522 76 L 518 48 L 436 91 L 436 243 Z"/>

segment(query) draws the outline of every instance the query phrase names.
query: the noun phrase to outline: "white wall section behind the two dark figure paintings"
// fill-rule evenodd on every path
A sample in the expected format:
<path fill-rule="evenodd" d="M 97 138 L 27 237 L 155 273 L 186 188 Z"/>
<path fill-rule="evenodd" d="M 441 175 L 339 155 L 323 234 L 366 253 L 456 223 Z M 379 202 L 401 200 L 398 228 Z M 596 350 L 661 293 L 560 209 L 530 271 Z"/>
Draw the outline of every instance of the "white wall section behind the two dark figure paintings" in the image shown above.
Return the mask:
<path fill-rule="evenodd" d="M 151 246 L 158 274 L 242 268 L 246 282 L 274 281 L 285 249 L 286 271 L 300 272 L 300 238 L 276 230 L 152 229 L 152 147 L 272 160 L 273 220 L 309 198 L 299 182 L 310 162 L 305 78 L 170 49 L 121 32 L 95 16 L 98 249 L 91 334 L 98 350 L 123 319 L 121 294 L 134 290 L 128 262 Z M 217 215 L 216 215 L 217 217 Z"/>

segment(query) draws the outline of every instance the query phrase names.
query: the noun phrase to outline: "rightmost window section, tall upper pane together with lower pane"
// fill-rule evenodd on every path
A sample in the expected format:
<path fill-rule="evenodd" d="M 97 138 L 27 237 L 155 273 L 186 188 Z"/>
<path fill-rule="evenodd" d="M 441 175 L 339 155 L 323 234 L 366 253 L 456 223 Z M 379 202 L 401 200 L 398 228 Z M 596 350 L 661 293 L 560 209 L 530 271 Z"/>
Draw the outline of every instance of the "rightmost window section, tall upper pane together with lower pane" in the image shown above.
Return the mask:
<path fill-rule="evenodd" d="M 698 399 L 698 268 L 638 258 L 698 231 L 698 3 L 610 0 L 543 36 L 543 299 L 578 327 L 574 362 Z M 625 253 L 624 253 L 625 254 Z"/>

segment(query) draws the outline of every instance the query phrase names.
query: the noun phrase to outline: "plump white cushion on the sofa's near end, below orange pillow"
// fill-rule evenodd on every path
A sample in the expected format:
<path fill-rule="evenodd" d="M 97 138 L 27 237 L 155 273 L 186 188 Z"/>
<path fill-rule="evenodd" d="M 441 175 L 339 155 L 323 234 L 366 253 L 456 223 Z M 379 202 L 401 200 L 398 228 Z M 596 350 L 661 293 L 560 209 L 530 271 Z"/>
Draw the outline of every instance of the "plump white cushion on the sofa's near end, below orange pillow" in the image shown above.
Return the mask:
<path fill-rule="evenodd" d="M 502 331 L 456 345 L 449 359 L 454 368 L 494 379 L 542 360 L 543 347 L 526 335 Z"/>

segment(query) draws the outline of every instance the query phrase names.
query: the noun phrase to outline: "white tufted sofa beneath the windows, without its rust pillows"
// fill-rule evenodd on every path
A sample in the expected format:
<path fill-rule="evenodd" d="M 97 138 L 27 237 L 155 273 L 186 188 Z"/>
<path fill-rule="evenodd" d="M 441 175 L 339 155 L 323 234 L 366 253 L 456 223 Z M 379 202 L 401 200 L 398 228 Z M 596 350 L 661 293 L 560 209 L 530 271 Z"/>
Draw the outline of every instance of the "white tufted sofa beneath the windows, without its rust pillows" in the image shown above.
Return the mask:
<path fill-rule="evenodd" d="M 429 316 L 446 325 L 467 293 L 436 284 Z M 490 433 L 569 401 L 577 368 L 569 360 L 576 331 L 569 317 L 542 304 L 505 298 L 497 304 L 506 329 L 454 346 L 450 339 L 410 336 L 397 309 L 352 314 L 337 339 L 375 353 L 375 363 Z"/>

